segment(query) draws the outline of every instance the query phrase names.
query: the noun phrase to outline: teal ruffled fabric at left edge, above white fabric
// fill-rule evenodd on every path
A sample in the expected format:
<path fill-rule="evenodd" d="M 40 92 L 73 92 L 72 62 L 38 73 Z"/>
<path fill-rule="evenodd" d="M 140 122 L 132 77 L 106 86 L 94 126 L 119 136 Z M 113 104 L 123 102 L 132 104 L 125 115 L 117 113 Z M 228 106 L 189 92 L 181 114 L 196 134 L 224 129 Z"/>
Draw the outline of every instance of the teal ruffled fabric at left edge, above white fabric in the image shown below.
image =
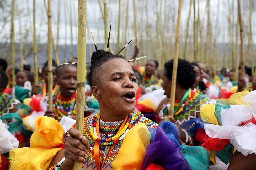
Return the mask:
<path fill-rule="evenodd" d="M 3 115 L 2 117 L 0 117 L 0 119 L 2 121 L 4 121 L 4 120 L 8 121 L 8 120 L 10 120 L 12 118 L 14 118 L 14 119 L 16 119 L 18 121 L 9 123 L 8 124 L 8 126 L 9 126 L 8 131 L 10 133 L 15 133 L 15 132 L 20 130 L 20 128 L 22 127 L 22 124 L 23 124 L 23 121 L 22 121 L 20 115 L 17 114 L 17 113 L 8 113 L 8 114 Z"/>

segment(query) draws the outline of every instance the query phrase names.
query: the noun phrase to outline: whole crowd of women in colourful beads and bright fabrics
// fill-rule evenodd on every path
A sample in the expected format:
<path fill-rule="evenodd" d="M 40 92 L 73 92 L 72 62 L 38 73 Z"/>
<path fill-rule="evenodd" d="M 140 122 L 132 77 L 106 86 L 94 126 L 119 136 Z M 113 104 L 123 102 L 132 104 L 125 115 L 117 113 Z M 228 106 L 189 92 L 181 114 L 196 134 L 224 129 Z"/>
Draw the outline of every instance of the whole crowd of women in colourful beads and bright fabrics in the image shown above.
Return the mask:
<path fill-rule="evenodd" d="M 138 48 L 135 48 L 135 58 Z M 179 59 L 174 112 L 173 60 L 158 70 L 97 50 L 86 76 L 84 133 L 76 129 L 77 66 L 48 63 L 39 84 L 27 65 L 0 59 L 0 169 L 254 169 L 256 77 L 246 67 L 207 70 Z M 12 77 L 16 82 L 12 82 Z M 48 109 L 52 102 L 53 109 Z"/>

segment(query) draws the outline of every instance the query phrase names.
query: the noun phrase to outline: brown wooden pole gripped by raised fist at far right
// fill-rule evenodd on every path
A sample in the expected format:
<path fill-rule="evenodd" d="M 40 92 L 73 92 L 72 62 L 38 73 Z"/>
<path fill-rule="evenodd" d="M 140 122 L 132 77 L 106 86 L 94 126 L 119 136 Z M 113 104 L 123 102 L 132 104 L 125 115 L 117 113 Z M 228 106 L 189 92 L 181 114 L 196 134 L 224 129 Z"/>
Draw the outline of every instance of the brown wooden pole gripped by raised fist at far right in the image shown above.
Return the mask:
<path fill-rule="evenodd" d="M 241 14 L 241 5 L 240 0 L 237 0 L 237 6 L 238 6 L 238 20 L 239 20 L 239 26 L 240 26 L 240 67 L 241 67 L 241 77 L 244 78 L 245 76 L 245 68 L 244 68 L 244 41 L 243 41 L 243 21 L 242 21 L 242 14 Z"/>

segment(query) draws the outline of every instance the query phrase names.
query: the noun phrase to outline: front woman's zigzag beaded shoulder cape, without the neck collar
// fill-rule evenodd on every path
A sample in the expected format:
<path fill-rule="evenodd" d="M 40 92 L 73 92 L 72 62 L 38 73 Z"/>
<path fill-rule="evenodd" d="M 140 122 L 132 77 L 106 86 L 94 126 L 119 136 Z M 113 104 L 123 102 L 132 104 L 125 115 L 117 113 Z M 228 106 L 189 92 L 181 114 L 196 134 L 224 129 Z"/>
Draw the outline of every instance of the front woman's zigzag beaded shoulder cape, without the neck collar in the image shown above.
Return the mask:
<path fill-rule="evenodd" d="M 94 169 L 96 167 L 96 163 L 94 160 L 94 154 L 93 154 L 93 149 L 94 149 L 94 145 L 95 145 L 95 140 L 93 139 L 92 135 L 90 134 L 90 126 L 93 120 L 93 116 L 89 116 L 84 118 L 84 136 L 87 138 L 89 144 L 90 144 L 90 149 L 88 152 L 88 156 L 86 157 L 86 161 L 83 162 L 83 165 L 86 166 L 87 168 L 90 169 Z M 137 112 L 135 114 L 135 119 L 134 119 L 134 126 L 138 123 L 144 123 L 148 128 L 157 128 L 158 124 L 149 120 L 148 118 L 144 117 L 141 112 Z M 73 125 L 72 128 L 75 127 L 75 124 Z M 102 136 L 102 135 L 101 135 Z M 65 133 L 63 140 L 66 140 L 66 138 L 68 137 L 68 132 Z M 113 150 L 110 152 L 109 157 L 107 158 L 103 169 L 105 168 L 110 168 L 112 169 L 112 165 L 111 163 L 115 160 L 118 151 L 122 145 L 123 140 L 119 141 L 117 144 L 115 144 Z M 99 147 L 99 157 L 100 157 L 100 161 L 103 161 L 103 155 L 104 155 L 104 149 L 105 146 L 104 145 L 100 145 Z"/>

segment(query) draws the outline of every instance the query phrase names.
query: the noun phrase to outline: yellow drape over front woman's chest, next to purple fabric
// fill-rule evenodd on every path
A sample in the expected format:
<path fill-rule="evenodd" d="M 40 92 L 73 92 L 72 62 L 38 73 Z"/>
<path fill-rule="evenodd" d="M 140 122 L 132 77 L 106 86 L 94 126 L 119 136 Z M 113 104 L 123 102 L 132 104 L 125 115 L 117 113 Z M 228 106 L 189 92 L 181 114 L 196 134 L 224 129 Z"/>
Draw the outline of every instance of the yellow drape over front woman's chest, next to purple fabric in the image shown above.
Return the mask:
<path fill-rule="evenodd" d="M 112 163 L 113 169 L 141 169 L 149 144 L 150 132 L 147 126 L 144 123 L 138 123 L 126 134 L 118 155 Z"/>

